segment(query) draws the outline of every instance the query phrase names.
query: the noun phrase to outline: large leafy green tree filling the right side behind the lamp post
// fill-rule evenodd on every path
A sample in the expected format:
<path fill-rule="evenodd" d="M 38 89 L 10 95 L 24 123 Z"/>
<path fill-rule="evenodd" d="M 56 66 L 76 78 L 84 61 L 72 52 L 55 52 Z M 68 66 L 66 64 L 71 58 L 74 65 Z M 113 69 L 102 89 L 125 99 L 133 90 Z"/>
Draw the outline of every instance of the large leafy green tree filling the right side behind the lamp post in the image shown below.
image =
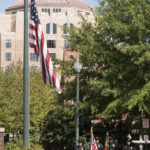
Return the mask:
<path fill-rule="evenodd" d="M 80 111 L 88 117 L 109 122 L 127 114 L 131 126 L 134 119 L 150 114 L 149 10 L 147 0 L 101 0 L 95 23 L 82 17 L 81 28 L 66 36 L 72 50 L 81 54 Z M 73 75 L 73 61 L 69 63 L 63 64 L 64 74 Z M 68 89 L 64 94 L 74 99 L 75 81 Z"/>

